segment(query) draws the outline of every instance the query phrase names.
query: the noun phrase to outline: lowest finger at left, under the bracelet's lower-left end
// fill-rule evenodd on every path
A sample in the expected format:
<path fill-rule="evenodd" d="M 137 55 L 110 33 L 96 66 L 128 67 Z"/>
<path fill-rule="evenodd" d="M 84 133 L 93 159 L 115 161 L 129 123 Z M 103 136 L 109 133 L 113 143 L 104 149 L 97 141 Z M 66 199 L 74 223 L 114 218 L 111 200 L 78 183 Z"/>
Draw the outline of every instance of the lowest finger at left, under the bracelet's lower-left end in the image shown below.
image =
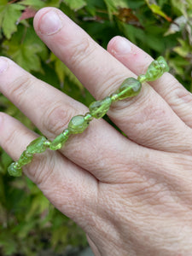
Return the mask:
<path fill-rule="evenodd" d="M 5 113 L 0 113 L 0 134 L 0 146 L 14 160 L 37 137 L 18 120 Z M 95 208 L 92 202 L 96 200 L 97 182 L 89 172 L 52 151 L 36 154 L 32 163 L 24 168 L 24 172 L 38 184 L 55 207 L 84 226 L 84 212 L 88 218 L 91 209 Z"/>

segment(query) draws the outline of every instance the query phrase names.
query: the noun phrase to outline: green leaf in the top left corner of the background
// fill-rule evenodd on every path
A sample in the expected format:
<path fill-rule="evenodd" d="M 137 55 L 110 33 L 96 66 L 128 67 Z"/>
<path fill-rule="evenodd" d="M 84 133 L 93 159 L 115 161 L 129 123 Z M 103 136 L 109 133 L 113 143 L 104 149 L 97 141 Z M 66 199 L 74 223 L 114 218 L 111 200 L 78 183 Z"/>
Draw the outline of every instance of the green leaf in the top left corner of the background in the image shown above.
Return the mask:
<path fill-rule="evenodd" d="M 25 7 L 18 3 L 0 5 L 0 27 L 2 27 L 6 38 L 10 39 L 12 33 L 17 31 L 16 21 L 20 18 L 23 9 Z"/>

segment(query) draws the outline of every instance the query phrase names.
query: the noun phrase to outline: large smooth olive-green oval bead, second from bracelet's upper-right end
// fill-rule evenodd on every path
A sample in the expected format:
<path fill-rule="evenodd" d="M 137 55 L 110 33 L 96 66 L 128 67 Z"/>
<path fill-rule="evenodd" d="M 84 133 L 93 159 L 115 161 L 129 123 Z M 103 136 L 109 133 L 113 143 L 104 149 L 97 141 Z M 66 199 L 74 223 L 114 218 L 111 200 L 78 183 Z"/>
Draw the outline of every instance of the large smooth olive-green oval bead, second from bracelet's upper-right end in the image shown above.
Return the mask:
<path fill-rule="evenodd" d="M 114 95 L 118 95 L 116 100 L 124 100 L 127 97 L 137 96 L 141 88 L 142 84 L 137 79 L 125 79 L 119 89 L 114 92 Z"/>

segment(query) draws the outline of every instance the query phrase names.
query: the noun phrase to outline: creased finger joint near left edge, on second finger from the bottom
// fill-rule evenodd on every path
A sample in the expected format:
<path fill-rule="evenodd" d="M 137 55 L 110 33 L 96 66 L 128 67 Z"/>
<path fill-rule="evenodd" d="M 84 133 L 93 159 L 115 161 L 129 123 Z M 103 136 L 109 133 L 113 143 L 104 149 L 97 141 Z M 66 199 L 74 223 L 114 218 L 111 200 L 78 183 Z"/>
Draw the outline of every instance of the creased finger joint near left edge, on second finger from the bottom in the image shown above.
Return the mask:
<path fill-rule="evenodd" d="M 9 84 L 10 95 L 14 96 L 20 106 L 22 99 L 25 98 L 25 94 L 29 87 L 31 87 L 33 79 L 30 75 L 20 76 L 15 79 L 14 82 Z"/>

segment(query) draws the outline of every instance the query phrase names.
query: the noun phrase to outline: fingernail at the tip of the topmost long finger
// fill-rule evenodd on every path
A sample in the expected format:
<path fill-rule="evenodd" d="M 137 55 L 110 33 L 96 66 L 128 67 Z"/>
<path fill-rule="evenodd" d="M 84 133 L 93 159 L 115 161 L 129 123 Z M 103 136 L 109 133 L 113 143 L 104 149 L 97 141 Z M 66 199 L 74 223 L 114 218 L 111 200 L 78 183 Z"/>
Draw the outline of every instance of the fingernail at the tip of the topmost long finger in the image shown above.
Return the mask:
<path fill-rule="evenodd" d="M 52 35 L 62 27 L 61 19 L 56 11 L 49 11 L 40 20 L 39 30 L 42 34 Z"/>

